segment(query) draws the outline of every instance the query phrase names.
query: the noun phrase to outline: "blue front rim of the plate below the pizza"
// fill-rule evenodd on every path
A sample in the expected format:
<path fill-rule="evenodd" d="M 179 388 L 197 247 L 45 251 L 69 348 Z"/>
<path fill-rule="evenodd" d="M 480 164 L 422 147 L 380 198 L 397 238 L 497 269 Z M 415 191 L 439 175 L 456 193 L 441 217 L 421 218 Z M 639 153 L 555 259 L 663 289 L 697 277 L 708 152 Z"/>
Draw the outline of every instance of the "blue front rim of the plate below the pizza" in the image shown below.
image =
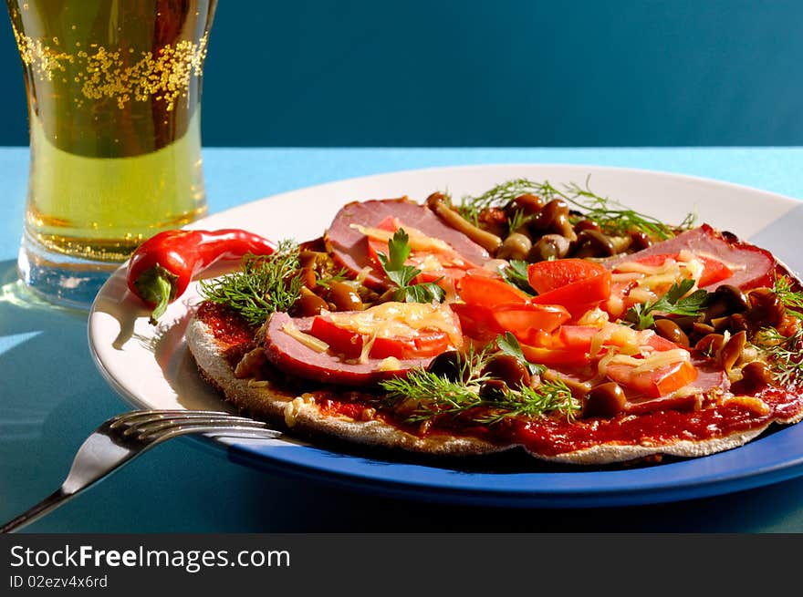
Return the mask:
<path fill-rule="evenodd" d="M 642 468 L 486 473 L 407 464 L 308 446 L 235 444 L 231 460 L 389 497 L 465 505 L 586 508 L 704 498 L 803 474 L 803 426 L 741 448 Z"/>

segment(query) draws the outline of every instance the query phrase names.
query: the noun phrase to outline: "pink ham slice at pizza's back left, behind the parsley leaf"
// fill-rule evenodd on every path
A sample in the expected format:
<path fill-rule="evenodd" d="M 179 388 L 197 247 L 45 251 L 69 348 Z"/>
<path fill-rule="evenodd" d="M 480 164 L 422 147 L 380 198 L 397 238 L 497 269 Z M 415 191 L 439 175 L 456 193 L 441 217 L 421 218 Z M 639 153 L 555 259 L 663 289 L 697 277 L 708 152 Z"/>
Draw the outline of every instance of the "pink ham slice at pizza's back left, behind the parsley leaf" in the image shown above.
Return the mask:
<path fill-rule="evenodd" d="M 427 236 L 447 242 L 454 251 L 474 265 L 480 266 L 490 258 L 488 252 L 480 245 L 463 232 L 444 224 L 430 209 L 419 203 L 407 198 L 354 201 L 337 213 L 324 234 L 324 241 L 340 267 L 345 267 L 355 275 L 370 268 L 364 283 L 371 288 L 384 290 L 390 284 L 370 258 L 368 237 L 352 227 L 352 224 L 374 228 L 389 217 L 400 221 L 402 227 L 408 226 Z"/>

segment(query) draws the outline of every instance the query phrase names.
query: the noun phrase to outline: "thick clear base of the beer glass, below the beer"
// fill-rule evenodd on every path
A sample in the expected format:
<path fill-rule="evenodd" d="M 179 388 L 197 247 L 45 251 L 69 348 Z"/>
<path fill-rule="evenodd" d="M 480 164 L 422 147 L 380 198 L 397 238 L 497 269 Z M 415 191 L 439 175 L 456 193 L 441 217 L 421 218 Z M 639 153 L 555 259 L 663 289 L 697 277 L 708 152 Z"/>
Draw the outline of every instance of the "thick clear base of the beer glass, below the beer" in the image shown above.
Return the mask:
<path fill-rule="evenodd" d="M 49 252 L 27 234 L 16 263 L 20 278 L 37 298 L 83 311 L 89 311 L 100 286 L 120 267 Z"/>

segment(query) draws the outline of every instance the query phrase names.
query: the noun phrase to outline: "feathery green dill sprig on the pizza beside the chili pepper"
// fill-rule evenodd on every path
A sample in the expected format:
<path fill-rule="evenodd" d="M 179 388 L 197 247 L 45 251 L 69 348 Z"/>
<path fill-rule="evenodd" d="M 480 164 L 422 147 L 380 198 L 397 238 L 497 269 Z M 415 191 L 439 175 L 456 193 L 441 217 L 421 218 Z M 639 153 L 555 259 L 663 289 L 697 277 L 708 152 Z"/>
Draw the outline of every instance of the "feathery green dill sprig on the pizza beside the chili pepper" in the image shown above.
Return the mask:
<path fill-rule="evenodd" d="M 203 280 L 201 295 L 233 309 L 248 324 L 261 325 L 268 315 L 296 303 L 301 290 L 298 267 L 298 245 L 282 241 L 271 255 L 245 255 L 237 272 Z"/>

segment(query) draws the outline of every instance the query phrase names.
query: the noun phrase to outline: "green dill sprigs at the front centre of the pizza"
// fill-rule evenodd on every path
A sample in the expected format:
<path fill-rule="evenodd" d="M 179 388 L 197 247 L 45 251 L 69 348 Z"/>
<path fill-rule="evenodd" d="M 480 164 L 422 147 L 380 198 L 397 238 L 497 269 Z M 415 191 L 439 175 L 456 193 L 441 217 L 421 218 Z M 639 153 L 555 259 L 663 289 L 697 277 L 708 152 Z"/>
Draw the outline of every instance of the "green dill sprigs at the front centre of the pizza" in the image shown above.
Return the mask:
<path fill-rule="evenodd" d="M 493 398 L 480 396 L 481 386 L 489 379 L 482 373 L 487 357 L 487 350 L 461 357 L 463 375 L 456 381 L 421 368 L 385 380 L 381 382 L 385 394 L 378 398 L 381 407 L 395 410 L 409 424 L 461 417 L 464 422 L 495 425 L 510 417 L 537 418 L 552 412 L 574 417 L 579 410 L 568 386 L 559 379 L 536 388 L 507 388 Z"/>

